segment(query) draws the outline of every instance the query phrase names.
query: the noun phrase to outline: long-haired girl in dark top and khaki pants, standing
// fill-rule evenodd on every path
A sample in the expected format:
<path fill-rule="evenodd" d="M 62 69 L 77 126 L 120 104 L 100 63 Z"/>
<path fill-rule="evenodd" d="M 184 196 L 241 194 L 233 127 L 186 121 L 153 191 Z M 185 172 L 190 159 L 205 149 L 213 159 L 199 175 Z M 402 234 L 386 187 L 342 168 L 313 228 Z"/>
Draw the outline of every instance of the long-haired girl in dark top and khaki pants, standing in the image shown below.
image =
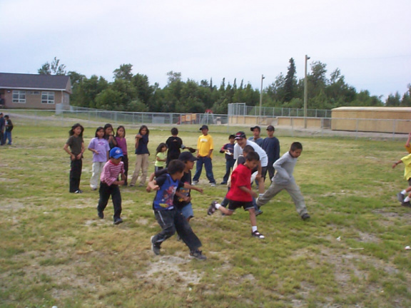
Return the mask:
<path fill-rule="evenodd" d="M 150 131 L 146 125 L 141 125 L 138 134 L 136 135 L 136 165 L 134 168 L 133 178 L 131 178 L 130 186 L 136 185 L 138 175 L 141 170 L 140 185 L 144 186 L 147 178 L 148 169 L 148 156 L 150 152 L 148 151 L 148 135 Z"/>

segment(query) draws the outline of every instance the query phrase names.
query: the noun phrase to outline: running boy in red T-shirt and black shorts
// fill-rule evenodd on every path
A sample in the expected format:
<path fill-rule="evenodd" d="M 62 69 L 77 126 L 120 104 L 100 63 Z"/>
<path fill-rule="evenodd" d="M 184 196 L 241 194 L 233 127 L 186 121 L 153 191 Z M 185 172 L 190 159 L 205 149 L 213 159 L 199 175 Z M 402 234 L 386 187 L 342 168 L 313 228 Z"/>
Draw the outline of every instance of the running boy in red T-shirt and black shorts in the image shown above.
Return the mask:
<path fill-rule="evenodd" d="M 258 197 L 258 194 L 251 190 L 250 182 L 251 170 L 257 167 L 259 160 L 260 156 L 258 153 L 248 153 L 244 165 L 238 165 L 231 174 L 231 189 L 226 195 L 226 198 L 229 201 L 228 208 L 213 201 L 208 208 L 207 214 L 213 215 L 215 210 L 220 210 L 225 215 L 233 215 L 233 212 L 236 209 L 243 207 L 244 210 L 248 210 L 250 215 L 251 235 L 263 239 L 264 235 L 257 230 L 257 220 L 255 218 L 255 210 L 253 207 L 253 197 Z"/>

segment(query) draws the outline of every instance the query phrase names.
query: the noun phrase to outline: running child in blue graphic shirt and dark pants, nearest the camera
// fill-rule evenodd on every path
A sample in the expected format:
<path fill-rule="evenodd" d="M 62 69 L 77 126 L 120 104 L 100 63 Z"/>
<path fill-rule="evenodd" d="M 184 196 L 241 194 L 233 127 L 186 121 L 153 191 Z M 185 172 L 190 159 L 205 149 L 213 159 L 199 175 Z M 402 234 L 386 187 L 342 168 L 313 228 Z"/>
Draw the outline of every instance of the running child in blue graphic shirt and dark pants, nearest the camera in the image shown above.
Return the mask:
<path fill-rule="evenodd" d="M 190 257 L 205 260 L 205 255 L 198 250 L 201 247 L 201 241 L 173 203 L 176 190 L 183 187 L 180 180 L 183 178 L 185 168 L 181 160 L 171 160 L 168 164 L 168 173 L 148 183 L 148 190 L 157 190 L 153 200 L 153 210 L 158 225 L 162 229 L 157 235 L 151 237 L 151 249 L 155 255 L 160 255 L 161 244 L 177 231 L 181 240 L 190 249 Z"/>

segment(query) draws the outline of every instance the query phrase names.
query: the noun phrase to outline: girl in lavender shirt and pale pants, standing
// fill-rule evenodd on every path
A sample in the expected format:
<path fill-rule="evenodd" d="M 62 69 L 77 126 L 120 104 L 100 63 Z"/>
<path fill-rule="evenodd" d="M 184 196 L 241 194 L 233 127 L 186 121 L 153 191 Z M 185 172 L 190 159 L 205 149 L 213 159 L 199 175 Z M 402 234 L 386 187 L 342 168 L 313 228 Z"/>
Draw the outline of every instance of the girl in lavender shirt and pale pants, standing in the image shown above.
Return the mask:
<path fill-rule="evenodd" d="M 101 170 L 103 170 L 104 164 L 108 160 L 108 151 L 110 150 L 108 141 L 104 139 L 104 128 L 101 126 L 96 129 L 96 135 L 91 139 L 90 144 L 88 145 L 88 150 L 93 152 L 90 187 L 92 190 L 97 190 Z"/>

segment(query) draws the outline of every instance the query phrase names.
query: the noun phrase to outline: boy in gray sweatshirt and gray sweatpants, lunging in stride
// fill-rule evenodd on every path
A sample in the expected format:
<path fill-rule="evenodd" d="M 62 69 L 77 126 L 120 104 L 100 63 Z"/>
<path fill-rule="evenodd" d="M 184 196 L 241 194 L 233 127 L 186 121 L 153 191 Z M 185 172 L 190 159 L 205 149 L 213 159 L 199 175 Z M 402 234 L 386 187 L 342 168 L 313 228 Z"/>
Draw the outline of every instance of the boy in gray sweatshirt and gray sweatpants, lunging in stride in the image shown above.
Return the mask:
<path fill-rule="evenodd" d="M 290 196 L 293 198 L 295 204 L 295 210 L 303 220 L 308 220 L 307 207 L 305 207 L 304 197 L 301 195 L 300 188 L 295 184 L 293 177 L 293 171 L 298 157 L 303 152 L 303 145 L 299 142 L 291 144 L 290 150 L 275 161 L 273 167 L 276 173 L 268 190 L 264 195 L 258 197 L 256 200 L 257 206 L 260 207 L 270 201 L 275 195 L 280 193 L 281 190 L 287 190 Z"/>

